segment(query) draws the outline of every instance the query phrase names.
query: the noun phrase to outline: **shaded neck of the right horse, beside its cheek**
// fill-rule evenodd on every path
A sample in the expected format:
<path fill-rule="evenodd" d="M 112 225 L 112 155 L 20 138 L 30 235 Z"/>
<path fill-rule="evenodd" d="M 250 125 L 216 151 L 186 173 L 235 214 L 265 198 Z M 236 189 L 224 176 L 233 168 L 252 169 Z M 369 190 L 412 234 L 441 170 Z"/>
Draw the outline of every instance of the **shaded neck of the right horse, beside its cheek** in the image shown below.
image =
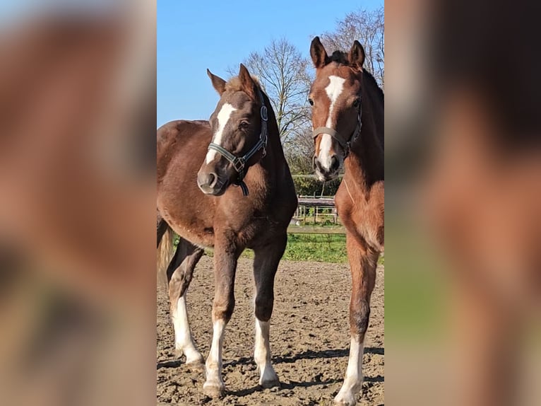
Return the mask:
<path fill-rule="evenodd" d="M 370 85 L 371 86 L 371 85 Z M 345 175 L 362 190 L 384 180 L 383 106 L 380 105 L 379 89 L 369 89 L 362 98 L 361 132 L 352 144 L 345 160 Z"/>

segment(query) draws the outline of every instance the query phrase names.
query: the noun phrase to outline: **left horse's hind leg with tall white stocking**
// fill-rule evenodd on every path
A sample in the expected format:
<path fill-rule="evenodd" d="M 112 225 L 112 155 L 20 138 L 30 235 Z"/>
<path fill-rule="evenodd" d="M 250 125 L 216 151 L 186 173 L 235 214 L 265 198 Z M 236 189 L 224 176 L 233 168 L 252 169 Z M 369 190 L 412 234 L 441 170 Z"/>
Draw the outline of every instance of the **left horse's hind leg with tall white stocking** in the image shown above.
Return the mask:
<path fill-rule="evenodd" d="M 186 309 L 186 291 L 190 286 L 194 268 L 203 255 L 203 249 L 181 238 L 177 251 L 167 268 L 171 319 L 174 327 L 174 347 L 179 354 L 186 356 L 186 364 L 202 364 L 203 356 L 198 352 L 191 330 Z"/>

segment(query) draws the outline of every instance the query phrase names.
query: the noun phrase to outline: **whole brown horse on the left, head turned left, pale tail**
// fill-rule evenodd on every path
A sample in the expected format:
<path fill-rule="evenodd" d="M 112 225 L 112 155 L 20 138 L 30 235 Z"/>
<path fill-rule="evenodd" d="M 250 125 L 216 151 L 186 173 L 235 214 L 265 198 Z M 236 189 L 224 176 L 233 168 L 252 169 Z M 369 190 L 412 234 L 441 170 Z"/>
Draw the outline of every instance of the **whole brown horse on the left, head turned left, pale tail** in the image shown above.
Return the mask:
<path fill-rule="evenodd" d="M 186 364 L 203 361 L 191 337 L 186 291 L 203 248 L 214 248 L 213 340 L 203 392 L 217 398 L 225 392 L 222 342 L 234 308 L 237 259 L 245 248 L 254 250 L 259 384 L 279 385 L 269 325 L 275 273 L 297 197 L 273 108 L 258 81 L 243 64 L 227 82 L 207 74 L 220 95 L 210 120 L 173 121 L 157 130 L 157 245 L 165 269 L 172 231 L 180 236 L 167 281 L 175 349 Z"/>

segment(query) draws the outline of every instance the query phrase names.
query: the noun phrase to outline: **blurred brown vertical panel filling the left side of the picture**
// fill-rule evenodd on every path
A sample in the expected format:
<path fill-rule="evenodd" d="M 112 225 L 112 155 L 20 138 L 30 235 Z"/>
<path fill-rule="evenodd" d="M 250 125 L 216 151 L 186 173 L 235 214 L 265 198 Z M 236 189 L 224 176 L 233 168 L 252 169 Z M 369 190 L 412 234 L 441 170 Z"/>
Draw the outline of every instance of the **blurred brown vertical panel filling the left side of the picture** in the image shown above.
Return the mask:
<path fill-rule="evenodd" d="M 0 16 L 0 404 L 152 405 L 155 3 Z"/>

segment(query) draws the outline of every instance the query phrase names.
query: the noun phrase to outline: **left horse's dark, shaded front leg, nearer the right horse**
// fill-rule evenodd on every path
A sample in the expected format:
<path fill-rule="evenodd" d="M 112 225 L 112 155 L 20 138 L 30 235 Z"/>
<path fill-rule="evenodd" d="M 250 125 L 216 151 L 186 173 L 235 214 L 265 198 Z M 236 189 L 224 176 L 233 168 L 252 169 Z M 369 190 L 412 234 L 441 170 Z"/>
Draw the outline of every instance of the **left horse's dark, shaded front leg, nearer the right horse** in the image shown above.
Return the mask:
<path fill-rule="evenodd" d="M 274 304 L 274 277 L 282 258 L 287 236 L 273 240 L 271 244 L 254 249 L 254 282 L 256 284 L 256 340 L 254 359 L 260 378 L 259 385 L 271 388 L 280 385 L 271 364 L 269 327 Z"/>

